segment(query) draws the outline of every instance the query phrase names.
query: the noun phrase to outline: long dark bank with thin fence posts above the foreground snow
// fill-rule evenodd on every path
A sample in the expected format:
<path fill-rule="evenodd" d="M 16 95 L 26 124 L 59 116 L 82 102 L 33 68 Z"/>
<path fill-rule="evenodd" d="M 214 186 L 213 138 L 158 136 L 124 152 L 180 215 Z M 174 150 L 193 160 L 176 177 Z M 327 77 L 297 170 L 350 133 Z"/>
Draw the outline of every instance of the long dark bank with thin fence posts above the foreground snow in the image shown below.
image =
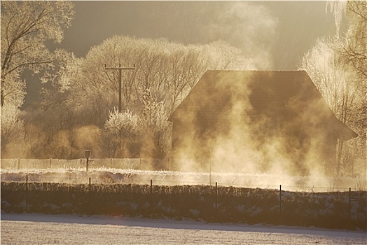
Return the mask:
<path fill-rule="evenodd" d="M 175 185 L 159 179 L 106 183 L 90 177 L 35 181 L 25 175 L 18 181 L 1 178 L 1 209 L 366 229 L 366 191 L 301 190 L 315 189 L 237 188 L 218 182 Z"/>

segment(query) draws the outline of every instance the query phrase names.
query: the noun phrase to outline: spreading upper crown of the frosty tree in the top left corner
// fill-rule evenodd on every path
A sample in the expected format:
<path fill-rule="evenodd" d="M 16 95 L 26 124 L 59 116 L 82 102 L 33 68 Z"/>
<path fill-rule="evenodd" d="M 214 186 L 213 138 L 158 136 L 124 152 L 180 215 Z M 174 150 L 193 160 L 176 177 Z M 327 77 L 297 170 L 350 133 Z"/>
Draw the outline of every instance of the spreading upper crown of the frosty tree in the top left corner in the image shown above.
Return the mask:
<path fill-rule="evenodd" d="M 43 71 L 43 81 L 53 80 L 60 52 L 50 52 L 46 41 L 60 43 L 63 27 L 74 16 L 69 1 L 1 1 L 1 106 L 17 96 L 17 83 L 25 69 Z M 14 89 L 14 87 L 18 89 Z M 24 94 L 24 93 L 23 93 Z"/>

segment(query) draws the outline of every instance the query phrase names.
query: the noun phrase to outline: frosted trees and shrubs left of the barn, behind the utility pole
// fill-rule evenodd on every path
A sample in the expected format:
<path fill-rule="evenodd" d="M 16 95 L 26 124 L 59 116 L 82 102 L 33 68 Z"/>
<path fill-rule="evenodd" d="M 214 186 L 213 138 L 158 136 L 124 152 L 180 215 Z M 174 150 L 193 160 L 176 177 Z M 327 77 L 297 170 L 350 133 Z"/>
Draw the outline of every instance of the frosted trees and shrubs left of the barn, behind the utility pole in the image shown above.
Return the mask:
<path fill-rule="evenodd" d="M 223 41 L 183 45 L 129 36 L 65 60 L 57 83 L 43 86 L 39 106 L 21 112 L 24 140 L 9 138 L 1 145 L 3 158 L 80 158 L 84 149 L 95 158 L 165 158 L 172 134 L 167 118 L 202 74 L 253 69 L 241 50 Z M 105 64 L 135 68 L 122 72 L 122 111 L 118 71 Z"/>

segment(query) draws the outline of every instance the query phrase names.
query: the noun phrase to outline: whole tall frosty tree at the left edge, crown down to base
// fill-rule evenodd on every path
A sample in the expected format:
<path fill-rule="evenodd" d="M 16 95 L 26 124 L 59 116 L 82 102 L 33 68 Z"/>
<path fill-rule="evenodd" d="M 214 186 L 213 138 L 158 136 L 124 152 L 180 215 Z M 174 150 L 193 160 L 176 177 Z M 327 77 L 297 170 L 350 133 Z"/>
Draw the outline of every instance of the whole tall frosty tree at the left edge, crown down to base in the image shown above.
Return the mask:
<path fill-rule="evenodd" d="M 70 26 L 74 16 L 72 8 L 69 1 L 1 1 L 2 150 L 12 148 L 13 141 L 22 150 L 27 148 L 25 122 L 19 117 L 25 97 L 24 71 L 38 74 L 44 83 L 53 81 L 67 87 L 63 73 L 69 53 L 51 52 L 48 42 L 62 41 L 63 28 Z M 20 156 L 20 151 L 13 152 Z M 12 156 L 10 151 L 6 153 Z"/>

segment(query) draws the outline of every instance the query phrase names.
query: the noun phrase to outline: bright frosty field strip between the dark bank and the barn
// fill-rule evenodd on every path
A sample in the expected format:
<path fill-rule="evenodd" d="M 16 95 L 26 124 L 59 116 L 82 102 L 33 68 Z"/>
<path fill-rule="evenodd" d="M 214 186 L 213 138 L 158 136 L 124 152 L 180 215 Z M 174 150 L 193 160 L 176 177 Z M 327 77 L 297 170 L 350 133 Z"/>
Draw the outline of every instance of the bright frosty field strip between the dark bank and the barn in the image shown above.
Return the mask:
<path fill-rule="evenodd" d="M 248 188 L 273 188 L 282 190 L 327 192 L 367 190 L 365 179 L 326 178 L 324 176 L 279 176 L 277 174 L 242 174 L 219 172 L 142 171 L 136 169 L 1 169 L 1 181 L 57 182 L 57 183 L 137 183 L 154 185 L 209 185 Z"/>

